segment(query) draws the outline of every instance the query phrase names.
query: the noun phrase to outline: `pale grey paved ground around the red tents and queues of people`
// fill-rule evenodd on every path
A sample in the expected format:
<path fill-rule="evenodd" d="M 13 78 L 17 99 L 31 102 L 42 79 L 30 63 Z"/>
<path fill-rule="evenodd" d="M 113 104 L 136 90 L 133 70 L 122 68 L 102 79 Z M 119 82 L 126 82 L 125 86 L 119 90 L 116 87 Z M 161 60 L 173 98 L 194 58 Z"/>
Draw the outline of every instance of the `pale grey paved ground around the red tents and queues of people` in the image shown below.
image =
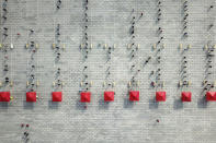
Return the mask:
<path fill-rule="evenodd" d="M 89 0 L 88 4 L 88 43 L 92 45 L 88 59 L 83 60 L 82 44 L 84 28 L 84 9 L 82 0 L 61 0 L 56 10 L 57 0 L 9 0 L 8 19 L 1 19 L 1 33 L 8 27 L 8 37 L 1 43 L 13 44 L 14 48 L 0 52 L 0 69 L 8 55 L 9 72 L 1 70 L 0 81 L 5 76 L 13 81 L 13 86 L 3 86 L 0 91 L 10 91 L 14 99 L 10 104 L 0 104 L 0 142 L 25 142 L 23 133 L 30 133 L 32 143 L 215 143 L 216 103 L 206 103 L 202 93 L 202 81 L 205 79 L 205 51 L 203 47 L 215 43 L 215 10 L 209 10 L 214 0 L 189 0 L 187 2 L 187 38 L 182 38 L 182 0 L 162 0 L 161 20 L 157 20 L 156 0 Z M 1 9 L 3 0 L 0 1 Z M 133 12 L 134 9 L 134 12 Z M 139 19 L 140 13 L 144 13 Z M 1 15 L 3 11 L 1 10 Z M 139 49 L 133 59 L 129 58 L 129 28 L 135 16 L 135 45 Z M 60 24 L 60 61 L 55 62 L 56 53 L 52 45 L 57 41 L 55 31 Z M 154 44 L 160 38 L 156 33 L 162 27 L 163 39 L 158 46 L 166 44 L 161 50 L 161 62 L 156 63 Z M 30 34 L 30 29 L 34 29 Z M 18 33 L 20 36 L 18 36 Z M 35 41 L 38 45 L 31 60 L 32 51 L 25 45 Z M 178 88 L 181 79 L 182 51 L 179 45 L 191 48 L 184 52 L 187 58 L 187 80 L 191 86 Z M 111 60 L 107 61 L 107 49 Z M 90 46 L 89 46 L 90 47 Z M 143 67 L 146 59 L 151 60 Z M 213 61 L 214 62 L 214 61 Z M 26 104 L 26 81 L 31 65 L 35 65 L 35 80 L 39 86 L 35 88 L 39 99 L 35 104 Z M 130 67 L 135 64 L 133 71 Z M 88 82 L 92 81 L 89 91 L 91 103 L 80 104 L 80 82 L 83 80 L 83 68 Z M 110 67 L 110 76 L 107 68 Z M 59 104 L 50 102 L 50 93 L 55 91 L 53 82 L 57 69 L 59 79 L 65 85 L 64 98 Z M 167 102 L 157 104 L 155 92 L 161 88 L 150 87 L 154 80 L 152 70 L 161 68 L 162 91 L 167 92 Z M 136 74 L 136 70 L 140 72 Z M 128 100 L 127 84 L 136 75 L 139 86 L 130 87 L 140 92 L 140 100 Z M 215 67 L 209 81 L 215 80 Z M 104 87 L 104 81 L 115 82 L 115 87 Z M 115 100 L 104 104 L 103 92 L 115 92 Z M 191 103 L 181 103 L 181 91 L 192 92 Z M 214 91 L 214 88 L 213 88 Z M 158 120 L 158 121 L 157 121 Z M 21 124 L 30 127 L 21 128 Z"/>

